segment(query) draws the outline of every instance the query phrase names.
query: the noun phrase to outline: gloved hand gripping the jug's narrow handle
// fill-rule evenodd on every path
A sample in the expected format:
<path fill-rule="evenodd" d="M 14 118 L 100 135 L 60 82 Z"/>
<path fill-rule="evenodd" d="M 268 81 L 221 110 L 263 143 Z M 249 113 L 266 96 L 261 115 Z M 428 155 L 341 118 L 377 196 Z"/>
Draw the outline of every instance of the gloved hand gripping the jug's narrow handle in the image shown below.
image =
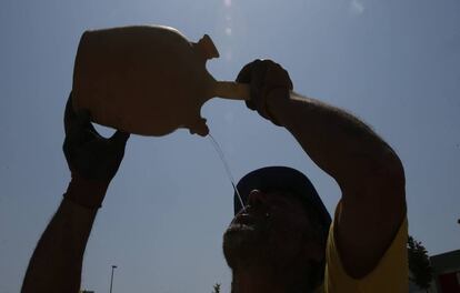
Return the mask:
<path fill-rule="evenodd" d="M 269 104 L 274 99 L 289 99 L 293 85 L 288 71 L 272 60 L 258 59 L 241 69 L 237 82 L 250 84 L 251 100 L 246 102 L 248 108 L 280 125 L 273 115 L 276 109 L 270 109 Z"/>

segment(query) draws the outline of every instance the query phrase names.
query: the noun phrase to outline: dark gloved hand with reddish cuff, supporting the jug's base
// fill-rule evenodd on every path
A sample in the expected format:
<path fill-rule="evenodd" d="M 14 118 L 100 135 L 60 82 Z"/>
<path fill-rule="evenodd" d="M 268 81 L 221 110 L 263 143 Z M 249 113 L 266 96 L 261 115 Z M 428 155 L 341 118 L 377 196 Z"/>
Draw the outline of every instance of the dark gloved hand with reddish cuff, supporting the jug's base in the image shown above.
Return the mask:
<path fill-rule="evenodd" d="M 129 133 L 101 137 L 90 122 L 89 111 L 73 111 L 72 94 L 66 105 L 63 153 L 72 181 L 64 198 L 87 208 L 99 208 L 124 155 Z"/>

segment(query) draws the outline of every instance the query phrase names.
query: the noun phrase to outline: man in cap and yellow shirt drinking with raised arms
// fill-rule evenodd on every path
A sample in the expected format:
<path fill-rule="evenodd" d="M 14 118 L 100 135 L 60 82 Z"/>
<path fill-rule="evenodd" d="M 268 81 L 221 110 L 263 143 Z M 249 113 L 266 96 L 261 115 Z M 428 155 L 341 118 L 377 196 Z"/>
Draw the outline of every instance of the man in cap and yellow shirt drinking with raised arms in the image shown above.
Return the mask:
<path fill-rule="evenodd" d="M 282 166 L 256 170 L 238 189 L 223 236 L 234 293 L 408 292 L 404 173 L 363 122 L 318 100 L 290 95 L 284 69 L 256 60 L 237 78 L 248 107 L 286 128 L 331 175 L 342 198 L 331 223 L 310 181 Z M 70 99 L 69 99 L 70 101 Z M 72 180 L 30 260 L 22 292 L 78 292 L 83 252 L 129 134 L 110 139 L 68 102 L 63 151 Z M 263 148 L 261 145 L 260 148 Z"/>

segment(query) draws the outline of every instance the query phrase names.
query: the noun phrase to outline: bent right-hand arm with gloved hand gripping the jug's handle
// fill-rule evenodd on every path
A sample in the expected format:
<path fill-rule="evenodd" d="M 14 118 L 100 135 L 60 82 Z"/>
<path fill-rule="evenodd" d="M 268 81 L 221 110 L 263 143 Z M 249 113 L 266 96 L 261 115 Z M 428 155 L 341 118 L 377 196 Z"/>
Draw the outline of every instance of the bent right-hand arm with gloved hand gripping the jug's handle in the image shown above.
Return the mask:
<path fill-rule="evenodd" d="M 248 107 L 292 133 L 308 155 L 338 182 L 336 219 L 343 266 L 351 276 L 369 273 L 406 216 L 404 173 L 394 151 L 368 125 L 343 110 L 290 94 L 279 64 L 257 60 L 237 78 L 251 85 Z"/>

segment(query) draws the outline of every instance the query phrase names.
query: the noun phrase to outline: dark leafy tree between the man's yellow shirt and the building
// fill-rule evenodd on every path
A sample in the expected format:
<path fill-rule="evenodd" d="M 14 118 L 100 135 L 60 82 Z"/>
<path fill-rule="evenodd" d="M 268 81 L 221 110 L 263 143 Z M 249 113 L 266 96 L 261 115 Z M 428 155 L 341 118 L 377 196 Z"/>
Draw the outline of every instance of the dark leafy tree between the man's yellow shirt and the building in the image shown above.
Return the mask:
<path fill-rule="evenodd" d="M 412 272 L 411 281 L 420 289 L 427 290 L 432 281 L 433 270 L 430 264 L 427 249 L 412 236 L 408 239 L 409 270 Z"/>

